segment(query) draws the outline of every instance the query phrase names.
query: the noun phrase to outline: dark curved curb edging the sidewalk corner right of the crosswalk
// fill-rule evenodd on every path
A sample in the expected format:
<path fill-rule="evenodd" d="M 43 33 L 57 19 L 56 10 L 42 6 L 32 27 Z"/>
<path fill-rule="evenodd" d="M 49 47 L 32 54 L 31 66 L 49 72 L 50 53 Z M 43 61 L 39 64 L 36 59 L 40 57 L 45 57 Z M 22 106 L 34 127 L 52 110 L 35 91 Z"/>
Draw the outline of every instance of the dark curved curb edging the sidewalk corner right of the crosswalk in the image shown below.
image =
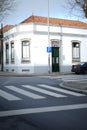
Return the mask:
<path fill-rule="evenodd" d="M 64 85 L 64 83 L 60 83 L 59 86 L 63 89 L 67 89 L 67 90 L 71 90 L 71 91 L 74 91 L 74 92 L 78 92 L 78 93 L 84 93 L 84 94 L 87 94 L 87 91 L 85 90 L 81 90 L 81 89 L 76 89 L 74 87 L 68 87 L 66 85 Z"/>

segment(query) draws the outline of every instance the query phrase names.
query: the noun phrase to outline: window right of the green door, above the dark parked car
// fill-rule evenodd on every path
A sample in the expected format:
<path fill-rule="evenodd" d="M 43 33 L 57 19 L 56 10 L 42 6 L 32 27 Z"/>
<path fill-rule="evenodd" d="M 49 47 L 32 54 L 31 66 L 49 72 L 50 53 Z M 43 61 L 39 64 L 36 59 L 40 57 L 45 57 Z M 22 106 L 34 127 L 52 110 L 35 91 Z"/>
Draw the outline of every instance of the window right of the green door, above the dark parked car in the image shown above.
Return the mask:
<path fill-rule="evenodd" d="M 72 58 L 73 60 L 80 60 L 80 43 L 72 43 Z"/>

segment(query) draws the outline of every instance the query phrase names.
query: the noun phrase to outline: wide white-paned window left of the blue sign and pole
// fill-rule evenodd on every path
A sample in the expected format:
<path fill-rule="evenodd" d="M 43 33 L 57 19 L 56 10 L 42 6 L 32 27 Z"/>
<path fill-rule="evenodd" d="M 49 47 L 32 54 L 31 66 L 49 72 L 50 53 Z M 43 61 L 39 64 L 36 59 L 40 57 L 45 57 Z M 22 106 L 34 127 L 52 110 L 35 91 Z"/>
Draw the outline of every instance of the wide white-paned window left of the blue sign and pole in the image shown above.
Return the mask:
<path fill-rule="evenodd" d="M 22 41 L 22 62 L 30 61 L 30 42 Z"/>

